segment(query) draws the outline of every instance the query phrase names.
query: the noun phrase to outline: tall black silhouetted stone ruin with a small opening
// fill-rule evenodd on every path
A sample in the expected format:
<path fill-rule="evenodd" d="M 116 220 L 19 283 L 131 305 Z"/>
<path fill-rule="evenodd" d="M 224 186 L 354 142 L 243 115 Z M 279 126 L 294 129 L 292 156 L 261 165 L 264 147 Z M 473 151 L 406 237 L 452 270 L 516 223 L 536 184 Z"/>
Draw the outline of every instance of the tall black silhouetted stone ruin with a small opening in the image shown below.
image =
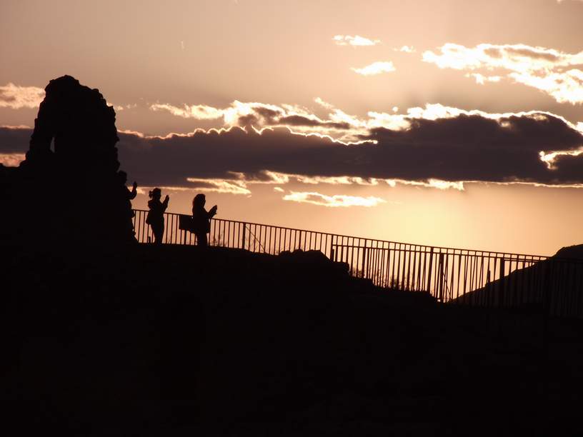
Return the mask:
<path fill-rule="evenodd" d="M 114 108 L 71 76 L 45 91 L 26 159 L 0 167 L 0 238 L 52 247 L 135 241 Z"/>

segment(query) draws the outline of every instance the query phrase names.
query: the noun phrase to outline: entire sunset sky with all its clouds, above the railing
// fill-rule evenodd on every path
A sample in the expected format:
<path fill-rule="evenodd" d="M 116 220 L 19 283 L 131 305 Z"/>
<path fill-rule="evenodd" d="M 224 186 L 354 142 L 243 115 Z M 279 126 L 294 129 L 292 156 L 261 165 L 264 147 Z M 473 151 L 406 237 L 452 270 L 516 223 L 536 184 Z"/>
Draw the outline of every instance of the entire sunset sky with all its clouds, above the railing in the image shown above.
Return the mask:
<path fill-rule="evenodd" d="M 4 0 L 0 163 L 49 80 L 169 211 L 550 255 L 583 243 L 583 1 Z"/>

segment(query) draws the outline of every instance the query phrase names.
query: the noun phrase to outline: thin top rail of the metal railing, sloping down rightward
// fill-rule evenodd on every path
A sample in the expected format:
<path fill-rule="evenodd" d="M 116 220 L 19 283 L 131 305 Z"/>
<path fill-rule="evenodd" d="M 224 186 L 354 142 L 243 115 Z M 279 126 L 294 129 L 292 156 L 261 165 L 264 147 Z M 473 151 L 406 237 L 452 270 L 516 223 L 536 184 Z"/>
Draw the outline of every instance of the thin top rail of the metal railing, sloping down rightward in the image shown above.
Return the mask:
<path fill-rule="evenodd" d="M 147 213 L 148 210 L 146 209 L 134 209 L 134 211 L 139 211 L 139 212 L 144 212 Z M 181 214 L 181 213 L 173 213 L 173 212 L 166 212 L 164 214 L 168 214 L 168 215 L 174 215 L 174 216 L 189 216 L 190 214 Z M 489 256 L 492 256 L 492 254 L 494 255 L 502 255 L 502 256 L 520 256 L 520 257 L 529 257 L 529 258 L 538 258 L 539 260 L 542 259 L 546 259 L 549 258 L 549 256 L 546 255 L 531 255 L 528 253 L 509 253 L 509 252 L 501 252 L 501 251 L 487 251 L 487 250 L 480 250 L 480 249 L 469 249 L 469 248 L 453 248 L 453 247 L 444 247 L 444 246 L 428 246 L 427 244 L 418 244 L 418 243 L 404 243 L 401 241 L 388 241 L 388 240 L 379 240 L 378 238 L 367 238 L 367 237 L 359 237 L 359 236 L 350 236 L 350 235 L 344 235 L 342 233 L 332 233 L 332 232 L 325 232 L 325 231 L 309 231 L 308 229 L 299 229 L 299 228 L 289 228 L 287 226 L 277 226 L 277 225 L 271 225 L 271 224 L 266 224 L 266 223 L 254 223 L 252 221 L 240 221 L 240 220 L 232 220 L 231 218 L 213 218 L 213 220 L 216 221 L 229 221 L 231 223 L 243 223 L 246 225 L 252 225 L 252 226 L 269 226 L 271 228 L 277 228 L 277 229 L 286 229 L 288 231 L 296 231 L 296 232 L 309 232 L 309 233 L 319 233 L 321 235 L 325 235 L 325 236 L 335 236 L 335 237 L 340 237 L 340 238 L 352 238 L 353 240 L 363 240 L 365 241 L 365 244 L 367 241 L 370 242 L 377 242 L 377 243 L 387 243 L 387 244 L 395 244 L 395 245 L 399 245 L 399 246 L 416 246 L 416 247 L 422 247 L 422 248 L 433 248 L 433 249 L 438 249 L 439 251 L 459 251 L 459 252 L 474 252 L 474 253 L 487 253 Z M 332 243 L 331 243 L 332 244 Z M 342 244 L 334 244 L 334 246 L 342 246 Z M 364 246 L 355 246 L 355 247 L 364 247 Z M 373 248 L 377 248 L 377 247 L 373 247 Z M 381 247 L 378 247 L 381 248 Z M 447 253 L 447 252 L 442 252 L 442 253 Z"/>

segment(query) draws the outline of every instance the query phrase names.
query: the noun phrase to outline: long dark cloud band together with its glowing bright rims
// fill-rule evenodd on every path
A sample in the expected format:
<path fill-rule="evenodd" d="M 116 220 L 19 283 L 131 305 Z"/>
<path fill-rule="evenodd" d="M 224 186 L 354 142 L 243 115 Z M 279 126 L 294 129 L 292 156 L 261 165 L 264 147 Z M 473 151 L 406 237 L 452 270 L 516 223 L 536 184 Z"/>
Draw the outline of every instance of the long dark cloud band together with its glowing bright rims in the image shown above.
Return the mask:
<path fill-rule="evenodd" d="M 248 115 L 277 122 L 295 111 L 267 105 Z M 346 114 L 329 109 L 336 121 Z M 344 116 L 342 115 L 344 114 Z M 350 116 L 347 116 L 350 118 Z M 489 114 L 439 104 L 355 120 L 357 143 L 291 127 L 196 129 L 145 136 L 119 131 L 121 168 L 146 186 L 247 194 L 251 184 L 416 184 L 464 181 L 583 184 L 583 132 L 547 112 Z M 328 129 L 322 127 L 321 129 Z M 0 128 L 0 154 L 22 154 L 31 130 Z M 307 190 L 308 191 L 308 190 Z"/>

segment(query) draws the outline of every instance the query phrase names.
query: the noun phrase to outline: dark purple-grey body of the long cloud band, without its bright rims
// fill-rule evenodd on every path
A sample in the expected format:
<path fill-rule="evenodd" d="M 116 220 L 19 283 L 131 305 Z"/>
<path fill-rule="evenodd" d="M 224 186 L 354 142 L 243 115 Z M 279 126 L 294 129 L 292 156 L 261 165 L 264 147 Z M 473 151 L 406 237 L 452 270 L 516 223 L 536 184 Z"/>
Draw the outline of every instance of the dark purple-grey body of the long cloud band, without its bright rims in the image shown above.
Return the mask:
<path fill-rule="evenodd" d="M 26 151 L 30 131 L 0 129 L 0 152 Z M 196 131 L 188 136 L 142 137 L 119 133 L 119 161 L 129 179 L 143 185 L 189 186 L 187 178 L 257 181 L 262 171 L 305 176 L 421 181 L 532 181 L 582 184 L 583 155 L 558 156 L 548 169 L 539 151 L 574 151 L 582 134 L 563 119 L 527 114 L 490 119 L 459 115 L 413 119 L 406 130 L 377 128 L 344 145 L 288 129 Z M 9 142 L 19 143 L 19 146 Z"/>

